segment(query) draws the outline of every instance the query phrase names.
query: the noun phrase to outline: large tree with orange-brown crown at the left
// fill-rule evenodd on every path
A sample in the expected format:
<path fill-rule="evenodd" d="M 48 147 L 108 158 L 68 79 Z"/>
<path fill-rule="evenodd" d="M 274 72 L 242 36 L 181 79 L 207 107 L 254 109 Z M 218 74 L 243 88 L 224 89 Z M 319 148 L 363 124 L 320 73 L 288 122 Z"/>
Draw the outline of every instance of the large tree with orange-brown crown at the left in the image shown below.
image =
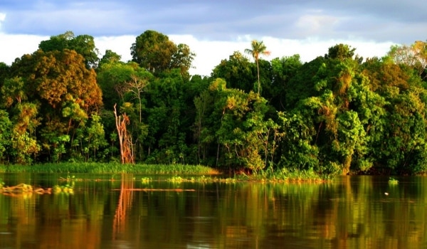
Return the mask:
<path fill-rule="evenodd" d="M 73 148 L 74 152 L 80 148 L 83 153 L 85 123 L 102 107 L 95 70 L 86 67 L 83 55 L 67 48 L 38 50 L 23 55 L 11 68 L 14 78 L 6 80 L 2 88 L 6 105 L 12 110 L 18 105 L 37 104 L 36 118 L 43 127 L 37 130 L 36 138 L 42 145 L 43 157 L 57 161 L 63 154 L 63 144 L 70 146 L 66 147 L 70 157 Z"/>

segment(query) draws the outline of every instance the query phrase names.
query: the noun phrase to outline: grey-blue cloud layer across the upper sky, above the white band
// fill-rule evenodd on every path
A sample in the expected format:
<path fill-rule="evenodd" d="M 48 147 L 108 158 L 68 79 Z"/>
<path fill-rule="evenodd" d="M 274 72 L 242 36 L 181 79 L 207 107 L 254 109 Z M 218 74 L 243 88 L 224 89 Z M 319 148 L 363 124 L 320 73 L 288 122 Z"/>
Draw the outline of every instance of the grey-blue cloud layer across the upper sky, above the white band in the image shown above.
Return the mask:
<path fill-rule="evenodd" d="M 137 36 L 153 29 L 211 41 L 251 34 L 410 43 L 427 33 L 427 4 L 419 0 L 393 4 L 386 0 L 16 0 L 0 8 L 7 13 L 4 32 L 46 36 L 68 30 L 91 36 Z"/>

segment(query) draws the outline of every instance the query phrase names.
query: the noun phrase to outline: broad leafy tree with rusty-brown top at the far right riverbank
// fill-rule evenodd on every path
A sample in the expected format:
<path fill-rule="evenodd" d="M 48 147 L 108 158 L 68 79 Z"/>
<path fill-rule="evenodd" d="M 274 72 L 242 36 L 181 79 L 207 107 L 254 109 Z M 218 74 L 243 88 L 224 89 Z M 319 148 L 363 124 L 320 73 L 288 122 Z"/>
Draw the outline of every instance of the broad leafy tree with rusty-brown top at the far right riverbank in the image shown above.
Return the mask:
<path fill-rule="evenodd" d="M 426 89 L 418 72 L 389 58 L 367 60 L 363 67 L 369 88 L 384 99 L 381 109 L 371 108 L 372 114 L 383 113 L 381 119 L 373 116 L 376 125 L 369 126 L 376 131 L 369 129 L 376 134 L 369 144 L 374 166 L 388 174 L 426 171 Z"/>

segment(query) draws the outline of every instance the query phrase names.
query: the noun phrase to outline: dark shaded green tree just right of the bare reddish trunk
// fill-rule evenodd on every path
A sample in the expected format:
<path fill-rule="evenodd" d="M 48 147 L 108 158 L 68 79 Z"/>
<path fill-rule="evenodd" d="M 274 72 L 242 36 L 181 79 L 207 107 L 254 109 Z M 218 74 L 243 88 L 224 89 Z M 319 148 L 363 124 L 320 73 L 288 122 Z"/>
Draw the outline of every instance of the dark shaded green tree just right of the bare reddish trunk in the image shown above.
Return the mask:
<path fill-rule="evenodd" d="M 149 160 L 160 163 L 184 163 L 188 147 L 186 134 L 190 117 L 184 115 L 185 79 L 179 69 L 165 73 L 163 78 L 147 86 L 147 106 L 144 112 L 148 134 L 145 147 Z"/>

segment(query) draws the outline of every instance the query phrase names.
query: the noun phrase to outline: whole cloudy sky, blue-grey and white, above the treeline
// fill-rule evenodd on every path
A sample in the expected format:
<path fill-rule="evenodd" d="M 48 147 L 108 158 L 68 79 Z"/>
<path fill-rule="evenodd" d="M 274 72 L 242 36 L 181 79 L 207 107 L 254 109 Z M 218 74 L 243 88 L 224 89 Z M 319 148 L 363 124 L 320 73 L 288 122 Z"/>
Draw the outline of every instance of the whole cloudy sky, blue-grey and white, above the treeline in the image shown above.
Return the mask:
<path fill-rule="evenodd" d="M 210 75 L 253 39 L 270 51 L 265 60 L 308 62 L 339 43 L 382 57 L 392 45 L 426 41 L 426 13 L 422 0 L 1 0 L 0 62 L 65 31 L 93 36 L 100 57 L 110 49 L 124 61 L 141 33 L 164 33 L 196 53 L 191 75 Z"/>

